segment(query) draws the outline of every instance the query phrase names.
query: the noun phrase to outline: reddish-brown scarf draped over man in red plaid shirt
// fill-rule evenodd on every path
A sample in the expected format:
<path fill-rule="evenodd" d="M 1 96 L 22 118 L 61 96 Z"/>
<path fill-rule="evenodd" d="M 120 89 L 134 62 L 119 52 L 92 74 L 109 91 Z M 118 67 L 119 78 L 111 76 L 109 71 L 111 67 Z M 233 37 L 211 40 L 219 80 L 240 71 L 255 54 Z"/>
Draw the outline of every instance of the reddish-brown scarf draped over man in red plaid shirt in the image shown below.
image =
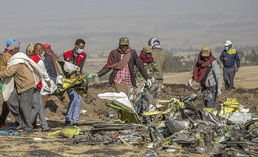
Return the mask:
<path fill-rule="evenodd" d="M 118 52 L 123 53 L 124 56 L 121 60 L 119 60 L 118 62 L 115 61 L 112 52 L 109 53 L 109 58 L 108 58 L 108 63 L 103 67 L 104 68 L 113 68 L 113 69 L 117 69 L 117 70 L 122 70 L 126 63 L 129 61 L 129 59 L 131 58 L 131 47 L 128 47 L 128 49 L 126 50 L 126 52 L 122 52 L 122 50 L 118 47 Z"/>

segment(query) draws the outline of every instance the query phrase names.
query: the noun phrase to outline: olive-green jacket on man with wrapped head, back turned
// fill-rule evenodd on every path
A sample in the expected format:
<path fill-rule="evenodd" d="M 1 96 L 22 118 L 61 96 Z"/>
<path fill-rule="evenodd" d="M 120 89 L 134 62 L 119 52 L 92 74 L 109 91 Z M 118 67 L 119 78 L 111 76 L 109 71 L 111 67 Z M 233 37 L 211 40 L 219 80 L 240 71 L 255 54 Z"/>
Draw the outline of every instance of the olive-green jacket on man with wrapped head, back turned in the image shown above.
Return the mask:
<path fill-rule="evenodd" d="M 157 64 L 157 67 L 159 70 L 157 79 L 163 79 L 163 72 L 165 71 L 165 69 L 167 67 L 167 54 L 160 49 L 153 49 L 152 57 L 156 61 L 156 64 Z"/>

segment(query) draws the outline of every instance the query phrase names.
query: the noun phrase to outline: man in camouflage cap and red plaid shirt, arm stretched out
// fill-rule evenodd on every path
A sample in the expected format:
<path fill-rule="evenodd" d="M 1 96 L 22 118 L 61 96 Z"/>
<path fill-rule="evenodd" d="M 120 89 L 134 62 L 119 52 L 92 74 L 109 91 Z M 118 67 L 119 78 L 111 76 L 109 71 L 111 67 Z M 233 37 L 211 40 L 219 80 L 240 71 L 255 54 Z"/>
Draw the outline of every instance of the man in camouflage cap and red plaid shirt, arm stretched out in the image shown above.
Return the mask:
<path fill-rule="evenodd" d="M 147 80 L 147 86 L 150 88 L 151 81 L 143 67 L 143 63 L 136 51 L 129 47 L 129 44 L 128 38 L 120 38 L 118 48 L 110 52 L 108 62 L 103 69 L 97 74 L 89 74 L 88 78 L 95 78 L 96 76 L 102 77 L 113 69 L 109 77 L 110 85 L 114 83 L 117 93 L 123 91 L 129 97 L 132 84 L 134 86 L 136 85 L 134 73 L 135 64 L 143 75 L 143 78 Z"/>

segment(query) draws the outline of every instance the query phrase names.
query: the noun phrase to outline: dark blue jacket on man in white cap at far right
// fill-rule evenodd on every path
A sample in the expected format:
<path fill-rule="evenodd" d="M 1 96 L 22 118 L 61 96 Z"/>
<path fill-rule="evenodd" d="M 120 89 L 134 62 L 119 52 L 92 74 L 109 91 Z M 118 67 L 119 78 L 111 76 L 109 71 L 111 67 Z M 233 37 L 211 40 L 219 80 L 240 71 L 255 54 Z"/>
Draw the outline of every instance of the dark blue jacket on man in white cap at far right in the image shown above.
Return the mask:
<path fill-rule="evenodd" d="M 224 60 L 225 57 L 228 58 L 226 61 Z M 235 62 L 236 67 L 240 67 L 240 59 L 237 52 L 235 52 L 234 54 L 229 54 L 226 50 L 223 50 L 220 55 L 220 60 L 223 61 L 223 66 L 226 68 L 234 67 Z"/>

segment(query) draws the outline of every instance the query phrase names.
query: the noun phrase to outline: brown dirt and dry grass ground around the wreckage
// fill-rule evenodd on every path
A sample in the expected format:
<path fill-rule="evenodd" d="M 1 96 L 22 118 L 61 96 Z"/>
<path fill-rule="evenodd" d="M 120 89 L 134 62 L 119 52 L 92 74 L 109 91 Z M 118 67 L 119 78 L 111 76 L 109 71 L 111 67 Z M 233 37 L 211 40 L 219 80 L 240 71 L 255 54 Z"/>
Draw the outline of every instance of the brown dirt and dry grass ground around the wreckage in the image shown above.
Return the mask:
<path fill-rule="evenodd" d="M 187 94 L 196 93 L 200 89 L 192 88 L 185 84 L 166 84 L 163 88 L 163 100 L 183 97 Z M 88 129 L 94 122 L 101 122 L 102 118 L 108 118 L 110 114 L 116 114 L 115 110 L 107 104 L 112 101 L 99 99 L 98 94 L 105 92 L 115 92 L 114 86 L 108 82 L 89 85 L 87 95 L 83 95 L 81 110 L 86 110 L 85 114 L 80 115 L 78 121 L 82 129 Z M 67 95 L 66 95 L 67 96 Z M 227 98 L 237 98 L 237 101 L 244 105 L 244 108 L 250 108 L 250 112 L 258 113 L 258 90 L 251 89 L 222 89 L 222 95 L 216 100 L 216 109 L 218 113 L 221 104 L 227 101 Z M 0 103 L 2 96 L 0 96 Z M 2 103 L 1 103 L 2 104 Z M 194 104 L 198 109 L 204 108 L 202 100 L 196 100 Z M 167 106 L 167 105 L 166 105 Z M 166 107 L 165 106 L 165 107 Z M 1 107 L 1 105 L 0 105 Z M 163 108 L 166 109 L 166 108 Z M 56 96 L 51 96 L 46 104 L 46 118 L 48 124 L 53 130 L 60 130 L 64 126 L 66 108 Z M 10 120 L 6 121 L 8 127 L 13 126 L 14 118 L 9 113 Z M 39 123 L 39 122 L 38 122 Z M 43 140 L 35 141 L 34 137 L 40 137 Z M 73 138 L 64 138 L 59 135 L 48 136 L 41 132 L 41 126 L 36 129 L 32 135 L 2 136 L 0 135 L 0 156 L 3 157 L 143 157 L 145 153 L 158 152 L 160 157 L 204 157 L 194 150 L 183 148 L 175 153 L 168 153 L 166 150 L 148 149 L 145 146 L 103 146 L 74 144 Z M 22 146 L 22 147 L 21 147 Z M 189 153 L 191 152 L 191 153 Z"/>

